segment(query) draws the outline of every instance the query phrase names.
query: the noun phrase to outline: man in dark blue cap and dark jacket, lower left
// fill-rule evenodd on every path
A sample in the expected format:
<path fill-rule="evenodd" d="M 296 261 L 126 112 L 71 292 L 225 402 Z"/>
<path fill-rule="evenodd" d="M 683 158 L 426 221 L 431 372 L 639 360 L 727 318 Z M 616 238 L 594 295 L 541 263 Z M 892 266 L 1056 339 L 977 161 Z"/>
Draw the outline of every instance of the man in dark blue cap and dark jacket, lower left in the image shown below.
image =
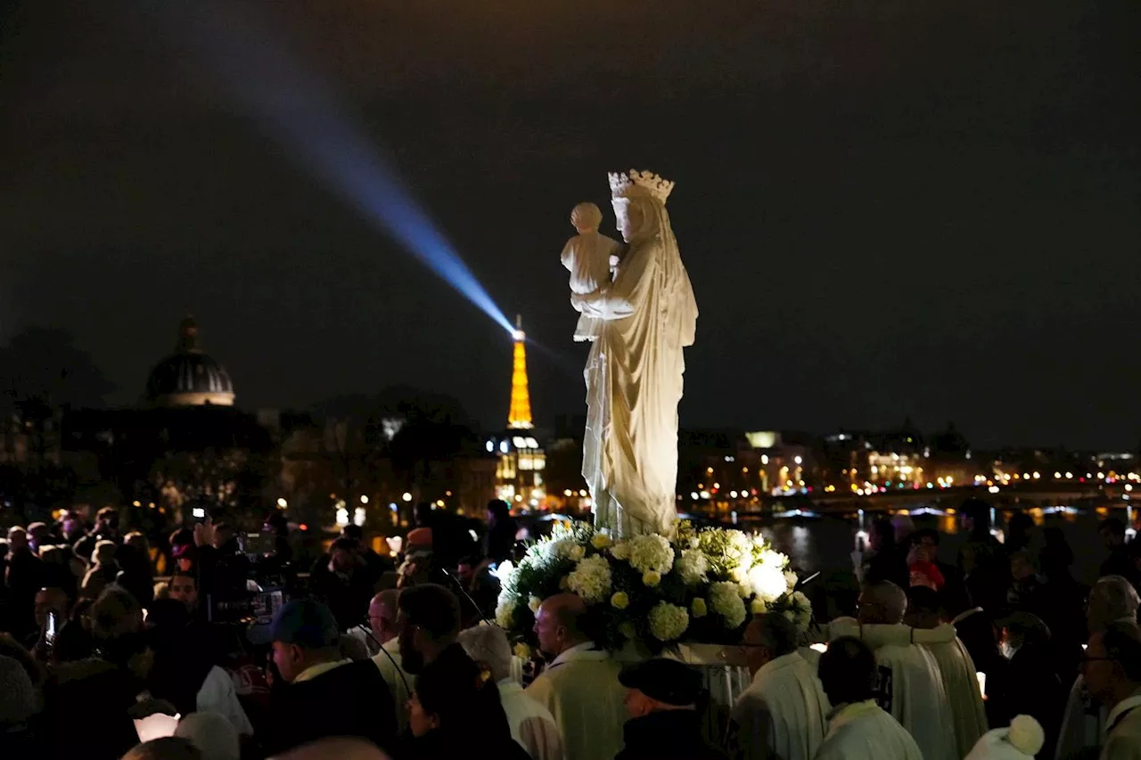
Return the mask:
<path fill-rule="evenodd" d="M 323 604 L 291 601 L 265 629 L 251 630 L 254 642 L 268 639 L 285 685 L 269 704 L 268 754 L 325 736 L 359 736 L 389 750 L 396 742 L 393 697 L 377 666 L 340 655 L 337 618 Z"/>

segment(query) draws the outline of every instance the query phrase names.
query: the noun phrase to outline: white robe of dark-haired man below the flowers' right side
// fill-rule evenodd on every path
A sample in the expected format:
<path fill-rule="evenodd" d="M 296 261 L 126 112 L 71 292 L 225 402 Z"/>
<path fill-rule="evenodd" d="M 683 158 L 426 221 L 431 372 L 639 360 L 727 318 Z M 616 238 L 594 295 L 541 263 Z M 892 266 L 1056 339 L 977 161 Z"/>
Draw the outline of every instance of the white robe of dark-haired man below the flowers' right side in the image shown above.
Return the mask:
<path fill-rule="evenodd" d="M 733 709 L 736 757 L 812 760 L 831 711 L 816 668 L 798 653 L 766 663 Z"/>

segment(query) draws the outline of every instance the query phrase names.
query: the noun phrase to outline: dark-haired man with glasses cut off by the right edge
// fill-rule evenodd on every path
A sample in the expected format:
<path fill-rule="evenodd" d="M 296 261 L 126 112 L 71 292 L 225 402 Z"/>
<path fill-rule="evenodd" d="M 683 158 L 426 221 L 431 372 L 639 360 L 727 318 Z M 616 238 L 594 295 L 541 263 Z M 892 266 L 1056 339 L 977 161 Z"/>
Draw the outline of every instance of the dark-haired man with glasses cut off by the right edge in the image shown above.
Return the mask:
<path fill-rule="evenodd" d="M 1109 710 L 1101 760 L 1141 758 L 1141 629 L 1110 623 L 1090 637 L 1082 661 L 1090 693 Z"/>

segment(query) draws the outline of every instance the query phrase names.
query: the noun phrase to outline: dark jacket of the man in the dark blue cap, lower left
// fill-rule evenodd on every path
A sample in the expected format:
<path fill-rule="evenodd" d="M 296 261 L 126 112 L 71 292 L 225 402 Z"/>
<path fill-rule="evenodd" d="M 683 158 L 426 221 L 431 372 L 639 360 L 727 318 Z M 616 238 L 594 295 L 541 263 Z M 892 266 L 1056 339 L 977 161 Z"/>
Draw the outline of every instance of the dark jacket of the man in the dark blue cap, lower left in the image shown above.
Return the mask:
<path fill-rule="evenodd" d="M 375 663 L 353 662 L 276 689 L 261 736 L 268 755 L 326 736 L 358 736 L 391 753 L 396 709 Z"/>

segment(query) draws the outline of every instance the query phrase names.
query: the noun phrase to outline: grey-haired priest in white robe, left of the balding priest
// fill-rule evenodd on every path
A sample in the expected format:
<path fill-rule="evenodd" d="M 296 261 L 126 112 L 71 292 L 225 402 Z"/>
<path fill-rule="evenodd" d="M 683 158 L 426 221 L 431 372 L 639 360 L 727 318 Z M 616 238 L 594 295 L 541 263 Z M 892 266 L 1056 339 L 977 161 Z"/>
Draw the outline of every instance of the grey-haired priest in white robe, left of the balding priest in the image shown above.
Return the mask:
<path fill-rule="evenodd" d="M 460 631 L 460 646 L 487 671 L 500 693 L 513 738 L 532 760 L 563 760 L 563 736 L 550 711 L 511 678 L 511 644 L 497 625 Z"/>

